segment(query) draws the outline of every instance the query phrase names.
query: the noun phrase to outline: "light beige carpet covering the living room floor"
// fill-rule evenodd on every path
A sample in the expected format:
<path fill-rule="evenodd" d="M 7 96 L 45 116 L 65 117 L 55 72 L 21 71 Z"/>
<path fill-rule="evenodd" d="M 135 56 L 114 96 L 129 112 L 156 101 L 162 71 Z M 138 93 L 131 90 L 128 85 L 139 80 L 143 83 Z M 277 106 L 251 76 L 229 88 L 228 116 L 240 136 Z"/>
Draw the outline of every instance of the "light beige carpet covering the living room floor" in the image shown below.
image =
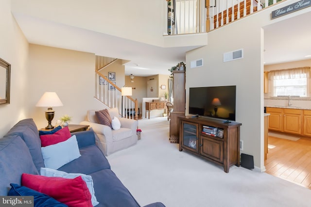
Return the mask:
<path fill-rule="evenodd" d="M 141 206 L 156 201 L 166 207 L 311 206 L 309 189 L 237 166 L 225 173 L 222 166 L 179 152 L 169 141 L 169 126 L 167 117 L 139 120 L 141 140 L 107 157 Z"/>

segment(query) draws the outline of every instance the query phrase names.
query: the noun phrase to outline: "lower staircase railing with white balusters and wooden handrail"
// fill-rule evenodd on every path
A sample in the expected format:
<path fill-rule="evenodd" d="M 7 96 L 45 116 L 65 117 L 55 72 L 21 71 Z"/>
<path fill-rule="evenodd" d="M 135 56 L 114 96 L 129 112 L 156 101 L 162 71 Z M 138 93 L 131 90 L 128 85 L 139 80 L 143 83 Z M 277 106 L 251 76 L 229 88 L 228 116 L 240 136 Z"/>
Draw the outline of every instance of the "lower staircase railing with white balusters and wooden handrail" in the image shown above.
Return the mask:
<path fill-rule="evenodd" d="M 95 71 L 95 86 L 95 98 L 98 101 L 109 108 L 117 107 L 122 117 L 138 119 L 138 100 L 122 96 L 121 88 L 98 71 Z"/>

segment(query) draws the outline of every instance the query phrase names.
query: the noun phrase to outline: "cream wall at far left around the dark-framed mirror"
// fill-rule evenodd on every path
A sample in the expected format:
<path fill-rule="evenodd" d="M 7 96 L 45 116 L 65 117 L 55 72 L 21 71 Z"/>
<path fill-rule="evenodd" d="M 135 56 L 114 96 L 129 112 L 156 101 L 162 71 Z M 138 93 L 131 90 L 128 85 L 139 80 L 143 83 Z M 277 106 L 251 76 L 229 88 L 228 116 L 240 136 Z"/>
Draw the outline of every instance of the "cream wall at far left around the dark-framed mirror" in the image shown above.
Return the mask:
<path fill-rule="evenodd" d="M 10 104 L 0 105 L 0 138 L 18 120 L 29 117 L 25 110 L 28 42 L 11 14 L 11 0 L 1 0 L 0 58 L 11 64 Z"/>

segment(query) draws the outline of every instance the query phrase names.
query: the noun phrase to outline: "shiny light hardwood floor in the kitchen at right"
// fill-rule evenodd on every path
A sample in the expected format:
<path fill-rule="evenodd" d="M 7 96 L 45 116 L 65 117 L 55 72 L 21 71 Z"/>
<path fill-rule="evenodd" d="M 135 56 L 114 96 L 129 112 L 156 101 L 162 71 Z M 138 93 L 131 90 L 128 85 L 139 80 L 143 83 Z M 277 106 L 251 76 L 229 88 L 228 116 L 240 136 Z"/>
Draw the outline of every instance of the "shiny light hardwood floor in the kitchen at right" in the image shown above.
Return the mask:
<path fill-rule="evenodd" d="M 311 138 L 268 137 L 266 173 L 311 189 Z"/>

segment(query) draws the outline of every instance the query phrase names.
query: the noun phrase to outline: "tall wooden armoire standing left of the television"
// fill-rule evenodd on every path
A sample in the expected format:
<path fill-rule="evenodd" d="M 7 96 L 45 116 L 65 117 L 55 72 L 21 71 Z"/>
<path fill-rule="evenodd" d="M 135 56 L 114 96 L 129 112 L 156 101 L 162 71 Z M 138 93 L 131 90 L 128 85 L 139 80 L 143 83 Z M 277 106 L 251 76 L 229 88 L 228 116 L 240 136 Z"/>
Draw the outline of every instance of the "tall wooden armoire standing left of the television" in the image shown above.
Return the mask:
<path fill-rule="evenodd" d="M 186 111 L 186 71 L 173 71 L 173 111 L 170 121 L 170 142 L 179 143 L 179 116 Z"/>

